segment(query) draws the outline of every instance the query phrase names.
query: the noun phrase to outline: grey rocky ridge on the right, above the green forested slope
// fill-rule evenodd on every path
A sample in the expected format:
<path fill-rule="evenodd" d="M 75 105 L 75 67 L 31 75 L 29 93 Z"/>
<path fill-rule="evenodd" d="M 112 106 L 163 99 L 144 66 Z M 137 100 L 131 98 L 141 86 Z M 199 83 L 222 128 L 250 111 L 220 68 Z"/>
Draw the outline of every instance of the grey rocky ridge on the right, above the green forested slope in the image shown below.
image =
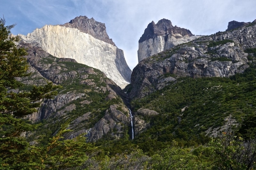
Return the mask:
<path fill-rule="evenodd" d="M 256 47 L 255 38 L 254 21 L 148 57 L 132 71 L 130 97 L 143 97 L 162 89 L 175 77 L 228 77 L 241 73 L 249 67 L 245 50 Z"/>

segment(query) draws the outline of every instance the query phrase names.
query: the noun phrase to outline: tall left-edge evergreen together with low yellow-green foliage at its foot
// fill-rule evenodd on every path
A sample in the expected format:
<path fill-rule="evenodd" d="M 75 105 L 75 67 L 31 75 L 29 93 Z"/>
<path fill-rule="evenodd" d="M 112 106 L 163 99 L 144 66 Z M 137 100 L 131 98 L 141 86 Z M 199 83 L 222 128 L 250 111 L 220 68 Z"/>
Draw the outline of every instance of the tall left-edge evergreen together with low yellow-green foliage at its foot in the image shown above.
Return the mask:
<path fill-rule="evenodd" d="M 17 48 L 18 36 L 11 35 L 15 26 L 5 26 L 0 19 L 0 169 L 66 169 L 81 165 L 91 145 L 86 138 L 63 140 L 68 125 L 64 124 L 47 146 L 31 146 L 22 132 L 33 131 L 36 125 L 27 123 L 23 116 L 37 111 L 42 99 L 57 95 L 60 86 L 48 82 L 34 86 L 31 91 L 15 92 L 22 86 L 16 77 L 29 75 L 26 49 Z M 17 91 L 17 90 L 16 90 Z"/>

